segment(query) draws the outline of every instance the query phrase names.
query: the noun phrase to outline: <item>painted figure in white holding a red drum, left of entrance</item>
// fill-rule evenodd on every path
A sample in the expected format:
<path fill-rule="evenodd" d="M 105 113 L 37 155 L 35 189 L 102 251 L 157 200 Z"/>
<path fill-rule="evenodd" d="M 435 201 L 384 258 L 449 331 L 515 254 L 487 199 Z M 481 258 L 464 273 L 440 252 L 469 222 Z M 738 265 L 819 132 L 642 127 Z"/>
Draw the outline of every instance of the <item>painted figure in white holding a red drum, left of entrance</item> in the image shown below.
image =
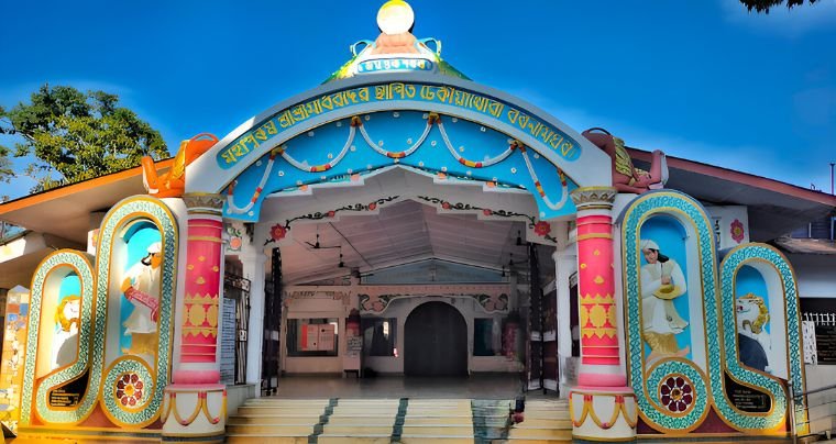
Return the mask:
<path fill-rule="evenodd" d="M 122 292 L 133 304 L 133 311 L 122 324 L 124 335 L 131 336 L 131 346 L 122 349 L 123 353 L 156 356 L 161 246 L 160 242 L 151 244 L 148 254 L 128 269 L 122 282 Z"/>

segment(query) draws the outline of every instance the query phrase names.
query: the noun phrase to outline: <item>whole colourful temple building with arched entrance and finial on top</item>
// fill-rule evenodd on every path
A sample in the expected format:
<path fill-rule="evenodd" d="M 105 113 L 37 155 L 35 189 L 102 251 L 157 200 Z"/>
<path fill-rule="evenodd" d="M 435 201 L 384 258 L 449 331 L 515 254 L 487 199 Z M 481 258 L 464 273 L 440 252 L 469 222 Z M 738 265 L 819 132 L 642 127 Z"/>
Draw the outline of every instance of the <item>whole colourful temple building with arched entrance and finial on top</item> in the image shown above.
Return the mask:
<path fill-rule="evenodd" d="M 836 371 L 805 368 L 815 334 L 801 298 L 836 297 L 836 256 L 782 236 L 831 217 L 836 198 L 570 127 L 442 59 L 402 0 L 377 25 L 323 84 L 230 134 L 0 206 L 24 227 L 0 245 L 9 433 L 811 433 L 798 395 Z M 326 399 L 271 407 L 299 375 Z M 430 435 L 442 425 L 426 412 L 447 401 L 385 392 L 371 410 L 392 423 L 366 435 L 339 421 L 361 401 L 315 387 L 336 375 L 524 382 L 491 404 L 499 435 L 476 431 L 479 396 L 450 401 L 470 429 L 450 420 Z M 539 395 L 515 423 L 525 392 Z"/>

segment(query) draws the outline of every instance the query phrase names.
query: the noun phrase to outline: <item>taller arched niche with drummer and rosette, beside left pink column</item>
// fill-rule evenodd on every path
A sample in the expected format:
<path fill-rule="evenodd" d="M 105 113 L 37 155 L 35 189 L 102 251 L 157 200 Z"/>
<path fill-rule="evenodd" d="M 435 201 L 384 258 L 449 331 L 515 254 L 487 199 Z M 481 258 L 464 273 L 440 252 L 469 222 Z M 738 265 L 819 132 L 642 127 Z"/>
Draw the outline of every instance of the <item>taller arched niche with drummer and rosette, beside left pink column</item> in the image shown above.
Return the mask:
<path fill-rule="evenodd" d="M 143 428 L 161 414 L 172 367 L 177 245 L 177 222 L 154 198 L 124 199 L 101 224 L 95 322 L 102 333 L 94 338 L 98 366 L 90 380 L 105 415 L 119 426 Z M 156 280 L 143 276 L 151 268 Z"/>

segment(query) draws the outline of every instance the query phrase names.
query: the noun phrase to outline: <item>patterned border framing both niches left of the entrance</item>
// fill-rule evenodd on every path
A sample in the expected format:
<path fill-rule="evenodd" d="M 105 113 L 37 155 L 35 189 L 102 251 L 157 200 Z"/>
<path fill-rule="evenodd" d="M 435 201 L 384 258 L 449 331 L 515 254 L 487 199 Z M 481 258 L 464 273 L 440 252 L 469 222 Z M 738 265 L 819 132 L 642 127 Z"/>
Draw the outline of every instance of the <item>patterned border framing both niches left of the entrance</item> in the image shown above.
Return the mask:
<path fill-rule="evenodd" d="M 102 381 L 113 382 L 110 374 L 103 375 L 105 353 L 107 344 L 108 323 L 108 289 L 110 278 L 111 246 L 116 236 L 125 223 L 138 219 L 146 219 L 160 229 L 163 241 L 161 307 L 158 321 L 158 353 L 154 379 L 151 381 L 151 400 L 148 404 L 135 412 L 128 412 L 108 403 L 102 399 L 102 393 L 109 388 L 103 387 Z M 26 340 L 26 364 L 23 377 L 23 393 L 21 402 L 21 425 L 31 423 L 32 396 L 34 389 L 35 356 L 37 353 L 37 333 L 41 320 L 41 299 L 43 298 L 44 282 L 54 269 L 74 266 L 78 269 L 81 281 L 81 324 L 79 325 L 79 355 L 72 366 L 48 376 L 44 379 L 35 393 L 35 409 L 40 418 L 51 424 L 75 424 L 85 420 L 97 402 L 110 418 L 120 422 L 118 425 L 142 426 L 161 413 L 163 404 L 163 390 L 168 384 L 170 373 L 170 355 L 174 344 L 174 301 L 176 291 L 177 273 L 177 223 L 168 208 L 158 199 L 135 196 L 117 203 L 106 215 L 102 224 L 99 244 L 99 253 L 96 258 L 96 278 L 90 262 L 87 257 L 74 251 L 61 251 L 54 253 L 38 266 L 33 278 L 31 314 Z M 118 367 L 118 368 L 117 368 Z M 146 364 L 136 359 L 125 359 L 114 367 L 111 373 L 132 370 L 145 374 Z M 51 388 L 68 382 L 89 368 L 87 391 L 79 406 L 73 410 L 54 410 L 47 406 L 47 393 Z M 148 375 L 150 377 L 151 375 Z M 150 379 L 148 379 L 150 380 Z M 113 382 L 114 384 L 114 382 Z"/>

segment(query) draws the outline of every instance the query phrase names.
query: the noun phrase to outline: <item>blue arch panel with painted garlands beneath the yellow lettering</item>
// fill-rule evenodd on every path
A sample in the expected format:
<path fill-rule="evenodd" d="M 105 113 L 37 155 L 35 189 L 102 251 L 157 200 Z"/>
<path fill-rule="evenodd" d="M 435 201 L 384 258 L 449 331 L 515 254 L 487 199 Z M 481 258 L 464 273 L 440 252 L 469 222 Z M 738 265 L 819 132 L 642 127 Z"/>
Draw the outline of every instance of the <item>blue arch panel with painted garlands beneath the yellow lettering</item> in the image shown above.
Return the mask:
<path fill-rule="evenodd" d="M 224 217 L 257 221 L 267 195 L 348 182 L 393 165 L 526 189 L 540 219 L 575 212 L 569 192 L 578 186 L 506 134 L 461 118 L 383 111 L 329 122 L 274 148 L 224 189 Z"/>

